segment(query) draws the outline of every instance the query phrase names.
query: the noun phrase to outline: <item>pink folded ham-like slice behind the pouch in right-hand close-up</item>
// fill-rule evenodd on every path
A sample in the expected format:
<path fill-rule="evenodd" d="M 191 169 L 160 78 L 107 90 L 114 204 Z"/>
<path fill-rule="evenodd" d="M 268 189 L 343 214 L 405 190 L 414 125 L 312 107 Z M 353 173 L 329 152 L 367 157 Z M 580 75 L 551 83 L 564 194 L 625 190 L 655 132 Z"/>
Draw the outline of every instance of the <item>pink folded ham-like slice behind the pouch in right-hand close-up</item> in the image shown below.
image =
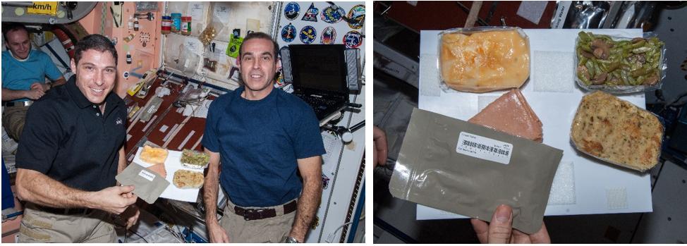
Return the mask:
<path fill-rule="evenodd" d="M 536 142 L 542 142 L 544 139 L 542 121 L 517 88 L 487 105 L 468 122 Z"/>

